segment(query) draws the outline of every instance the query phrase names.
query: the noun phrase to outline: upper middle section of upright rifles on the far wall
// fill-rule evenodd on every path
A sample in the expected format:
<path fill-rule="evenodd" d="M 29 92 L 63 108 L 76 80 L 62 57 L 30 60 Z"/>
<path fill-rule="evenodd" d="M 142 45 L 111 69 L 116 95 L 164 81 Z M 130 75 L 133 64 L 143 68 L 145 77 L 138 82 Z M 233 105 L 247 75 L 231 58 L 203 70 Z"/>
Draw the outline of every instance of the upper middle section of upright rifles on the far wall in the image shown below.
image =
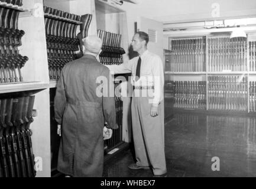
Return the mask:
<path fill-rule="evenodd" d="M 208 52 L 209 71 L 247 71 L 246 38 L 209 37 Z"/>

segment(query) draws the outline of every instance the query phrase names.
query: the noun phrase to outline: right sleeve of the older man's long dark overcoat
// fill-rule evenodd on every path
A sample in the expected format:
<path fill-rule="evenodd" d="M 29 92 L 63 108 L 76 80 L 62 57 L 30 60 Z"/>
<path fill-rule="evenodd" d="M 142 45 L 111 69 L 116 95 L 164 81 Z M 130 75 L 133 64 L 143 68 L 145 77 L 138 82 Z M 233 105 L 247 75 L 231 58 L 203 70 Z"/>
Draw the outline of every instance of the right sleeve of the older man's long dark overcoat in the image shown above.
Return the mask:
<path fill-rule="evenodd" d="M 102 76 L 106 77 L 106 83 L 103 83 L 103 87 L 107 87 L 108 95 L 102 96 L 102 109 L 105 117 L 105 121 L 108 123 L 108 128 L 118 129 L 116 125 L 116 112 L 115 112 L 115 97 L 111 96 L 109 89 L 112 87 L 109 86 L 109 69 L 106 68 L 103 70 Z"/>

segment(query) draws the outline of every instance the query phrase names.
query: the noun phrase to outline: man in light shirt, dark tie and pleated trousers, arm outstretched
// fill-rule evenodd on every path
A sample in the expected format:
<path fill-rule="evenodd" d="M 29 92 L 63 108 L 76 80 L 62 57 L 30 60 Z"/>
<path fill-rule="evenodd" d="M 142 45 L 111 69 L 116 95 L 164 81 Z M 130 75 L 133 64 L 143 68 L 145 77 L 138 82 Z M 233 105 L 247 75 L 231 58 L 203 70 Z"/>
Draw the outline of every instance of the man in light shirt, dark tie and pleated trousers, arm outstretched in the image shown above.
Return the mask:
<path fill-rule="evenodd" d="M 108 66 L 115 74 L 132 73 L 131 115 L 136 164 L 132 170 L 153 170 L 155 177 L 166 177 L 164 154 L 164 69 L 161 58 L 147 50 L 148 34 L 137 32 L 132 48 L 139 56 L 121 65 Z"/>

